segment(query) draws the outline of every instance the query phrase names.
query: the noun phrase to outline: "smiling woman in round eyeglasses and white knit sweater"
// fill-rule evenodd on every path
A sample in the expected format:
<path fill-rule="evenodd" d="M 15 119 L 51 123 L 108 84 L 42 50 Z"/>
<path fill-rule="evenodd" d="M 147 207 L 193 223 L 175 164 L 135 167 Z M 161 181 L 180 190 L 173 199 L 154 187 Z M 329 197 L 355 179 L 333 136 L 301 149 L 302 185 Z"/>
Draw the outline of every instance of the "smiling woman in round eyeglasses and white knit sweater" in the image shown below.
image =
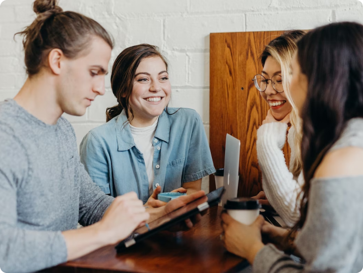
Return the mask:
<path fill-rule="evenodd" d="M 293 30 L 273 39 L 261 54 L 261 74 L 253 78 L 260 95 L 271 107 L 257 130 L 257 157 L 264 191 L 253 198 L 260 199 L 262 204 L 270 204 L 287 226 L 293 226 L 299 219 L 296 200 L 304 183 L 301 172 L 300 118 L 289 91 L 291 60 L 296 42 L 304 34 L 302 30 Z M 282 148 L 290 122 L 293 126 L 288 132 L 291 148 L 288 168 Z"/>

